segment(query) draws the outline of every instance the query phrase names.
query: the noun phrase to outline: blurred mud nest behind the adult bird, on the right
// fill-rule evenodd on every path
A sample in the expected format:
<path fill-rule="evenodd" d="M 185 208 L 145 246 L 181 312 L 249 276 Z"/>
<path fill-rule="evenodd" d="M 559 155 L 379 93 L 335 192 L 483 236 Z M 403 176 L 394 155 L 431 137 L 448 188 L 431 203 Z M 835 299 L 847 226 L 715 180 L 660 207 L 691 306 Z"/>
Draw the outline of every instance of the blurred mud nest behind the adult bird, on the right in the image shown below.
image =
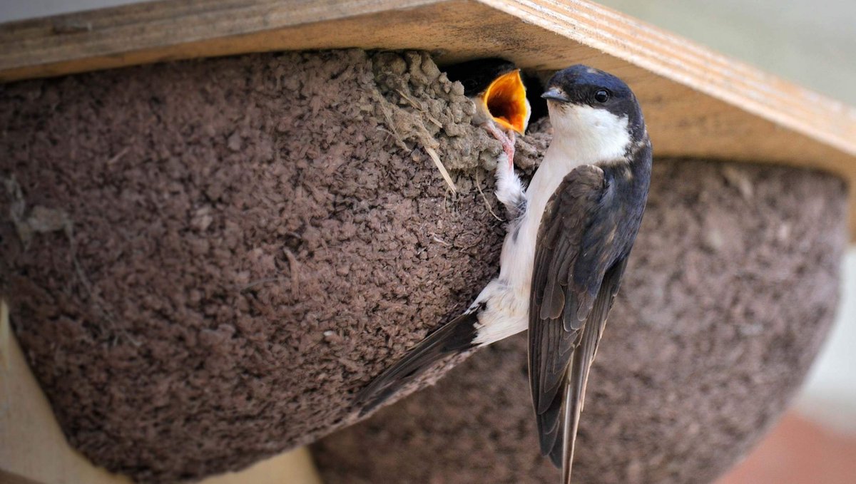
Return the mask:
<path fill-rule="evenodd" d="M 655 160 L 588 385 L 576 482 L 704 484 L 762 436 L 833 319 L 846 191 L 794 168 Z M 312 447 L 328 484 L 557 482 L 526 336 Z"/>

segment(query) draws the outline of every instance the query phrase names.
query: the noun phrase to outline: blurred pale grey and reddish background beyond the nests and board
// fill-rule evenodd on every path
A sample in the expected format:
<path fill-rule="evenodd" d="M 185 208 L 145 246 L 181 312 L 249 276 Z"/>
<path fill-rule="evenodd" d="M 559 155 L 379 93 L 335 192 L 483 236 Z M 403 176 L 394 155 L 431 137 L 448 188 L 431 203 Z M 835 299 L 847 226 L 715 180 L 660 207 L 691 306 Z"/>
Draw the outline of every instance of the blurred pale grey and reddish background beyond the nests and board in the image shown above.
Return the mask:
<path fill-rule="evenodd" d="M 0 22 L 135 0 L 0 2 Z M 602 0 L 722 54 L 856 106 L 853 0 Z M 856 482 L 856 245 L 842 261 L 835 328 L 794 409 L 717 484 Z"/>

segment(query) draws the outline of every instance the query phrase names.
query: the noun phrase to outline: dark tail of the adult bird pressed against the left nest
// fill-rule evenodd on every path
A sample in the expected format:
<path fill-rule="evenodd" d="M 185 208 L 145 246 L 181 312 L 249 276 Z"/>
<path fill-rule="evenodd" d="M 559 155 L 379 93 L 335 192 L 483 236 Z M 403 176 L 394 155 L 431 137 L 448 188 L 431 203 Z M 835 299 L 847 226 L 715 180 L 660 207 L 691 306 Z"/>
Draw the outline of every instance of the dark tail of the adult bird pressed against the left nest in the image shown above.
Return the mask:
<path fill-rule="evenodd" d="M 425 373 L 434 363 L 453 354 L 473 348 L 476 337 L 478 310 L 470 310 L 429 334 L 412 350 L 407 351 L 398 362 L 383 370 L 365 388 L 360 390 L 354 404 L 364 416 L 383 404 L 387 398 L 398 393 L 402 387 Z"/>

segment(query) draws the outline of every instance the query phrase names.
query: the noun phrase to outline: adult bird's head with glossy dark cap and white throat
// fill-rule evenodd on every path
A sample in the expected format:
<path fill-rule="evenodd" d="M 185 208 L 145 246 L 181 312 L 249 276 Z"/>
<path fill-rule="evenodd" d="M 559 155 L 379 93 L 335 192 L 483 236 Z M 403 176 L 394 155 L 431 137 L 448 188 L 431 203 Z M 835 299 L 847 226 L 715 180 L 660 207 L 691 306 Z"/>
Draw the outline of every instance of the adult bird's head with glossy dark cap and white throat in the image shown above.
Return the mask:
<path fill-rule="evenodd" d="M 571 66 L 550 78 L 541 97 L 548 101 L 556 133 L 564 136 L 578 141 L 597 138 L 598 143 L 625 147 L 647 136 L 633 91 L 612 74 L 581 64 Z"/>

